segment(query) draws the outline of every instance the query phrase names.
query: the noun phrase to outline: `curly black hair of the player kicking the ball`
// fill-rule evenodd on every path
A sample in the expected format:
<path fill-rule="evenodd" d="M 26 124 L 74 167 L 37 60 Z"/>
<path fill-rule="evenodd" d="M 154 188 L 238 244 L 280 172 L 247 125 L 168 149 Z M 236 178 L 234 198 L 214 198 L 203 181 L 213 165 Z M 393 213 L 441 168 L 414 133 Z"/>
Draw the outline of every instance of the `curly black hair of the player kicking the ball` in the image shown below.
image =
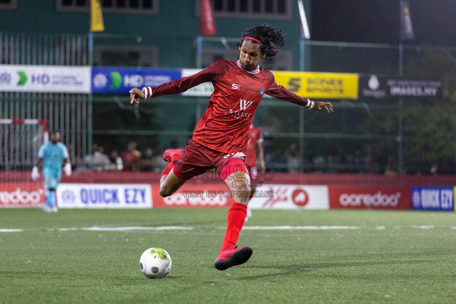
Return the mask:
<path fill-rule="evenodd" d="M 242 46 L 245 36 L 258 39 L 261 41 L 261 43 L 263 43 L 261 54 L 264 55 L 264 61 L 271 61 L 277 52 L 279 52 L 275 46 L 285 45 L 285 35 L 282 34 L 282 31 L 277 30 L 274 26 L 269 26 L 266 23 L 262 24 L 261 26 L 252 26 L 246 29 L 242 33 L 241 40 L 236 43 L 237 48 L 240 48 Z"/>

